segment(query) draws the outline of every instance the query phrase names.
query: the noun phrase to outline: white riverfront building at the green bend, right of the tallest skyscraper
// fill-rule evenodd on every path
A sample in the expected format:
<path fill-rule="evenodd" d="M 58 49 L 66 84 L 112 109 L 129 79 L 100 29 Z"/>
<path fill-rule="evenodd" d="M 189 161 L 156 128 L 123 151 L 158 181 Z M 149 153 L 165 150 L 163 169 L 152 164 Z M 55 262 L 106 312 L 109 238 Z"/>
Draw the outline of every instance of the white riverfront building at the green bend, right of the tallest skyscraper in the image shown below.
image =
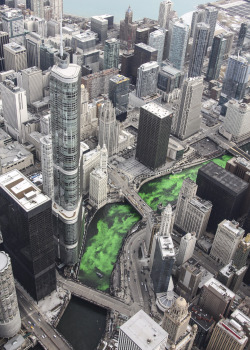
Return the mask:
<path fill-rule="evenodd" d="M 97 209 L 107 203 L 108 176 L 101 168 L 90 173 L 89 202 Z"/>

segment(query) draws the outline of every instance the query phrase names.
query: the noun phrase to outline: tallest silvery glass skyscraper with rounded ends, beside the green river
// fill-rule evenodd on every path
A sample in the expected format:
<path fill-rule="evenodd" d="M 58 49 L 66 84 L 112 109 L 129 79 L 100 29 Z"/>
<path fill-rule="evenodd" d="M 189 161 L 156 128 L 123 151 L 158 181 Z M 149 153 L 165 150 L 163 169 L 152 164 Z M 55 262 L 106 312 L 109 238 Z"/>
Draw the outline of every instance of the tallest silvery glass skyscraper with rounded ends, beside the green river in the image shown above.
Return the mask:
<path fill-rule="evenodd" d="M 79 258 L 82 226 L 80 184 L 81 68 L 58 55 L 50 76 L 50 106 L 54 167 L 53 226 L 57 257 L 66 265 Z"/>

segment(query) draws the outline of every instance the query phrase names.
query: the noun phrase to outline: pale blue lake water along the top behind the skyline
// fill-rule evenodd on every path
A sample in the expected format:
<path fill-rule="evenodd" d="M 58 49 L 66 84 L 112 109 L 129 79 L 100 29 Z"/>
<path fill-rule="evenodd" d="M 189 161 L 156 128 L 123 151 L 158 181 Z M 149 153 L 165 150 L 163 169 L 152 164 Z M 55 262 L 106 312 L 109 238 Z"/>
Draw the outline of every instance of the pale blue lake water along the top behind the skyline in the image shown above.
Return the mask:
<path fill-rule="evenodd" d="M 121 19 L 124 19 L 129 5 L 132 8 L 134 20 L 144 17 L 158 19 L 160 2 L 161 0 L 64 0 L 63 11 L 64 13 L 83 17 L 110 14 L 114 15 L 115 23 L 119 23 Z M 180 17 L 187 12 L 193 11 L 199 4 L 206 4 L 207 2 L 207 0 L 176 0 L 173 2 L 173 9 Z"/>

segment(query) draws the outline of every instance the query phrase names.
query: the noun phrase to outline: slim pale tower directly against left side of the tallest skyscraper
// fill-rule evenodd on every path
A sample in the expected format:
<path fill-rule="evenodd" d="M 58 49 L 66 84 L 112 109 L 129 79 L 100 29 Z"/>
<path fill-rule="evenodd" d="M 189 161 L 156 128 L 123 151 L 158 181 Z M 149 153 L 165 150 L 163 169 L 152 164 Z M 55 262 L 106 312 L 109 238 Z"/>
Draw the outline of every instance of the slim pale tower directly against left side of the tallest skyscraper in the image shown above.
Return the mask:
<path fill-rule="evenodd" d="M 53 152 L 51 135 L 43 136 L 41 143 L 41 167 L 43 175 L 43 192 L 50 198 L 54 197 Z"/>

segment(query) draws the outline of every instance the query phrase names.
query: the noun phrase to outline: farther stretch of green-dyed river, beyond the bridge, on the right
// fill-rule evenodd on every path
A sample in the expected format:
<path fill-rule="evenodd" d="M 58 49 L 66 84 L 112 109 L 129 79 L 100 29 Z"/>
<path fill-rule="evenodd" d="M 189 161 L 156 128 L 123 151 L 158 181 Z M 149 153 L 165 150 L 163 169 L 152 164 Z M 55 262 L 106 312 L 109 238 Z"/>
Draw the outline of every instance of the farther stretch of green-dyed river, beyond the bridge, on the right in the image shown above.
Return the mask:
<path fill-rule="evenodd" d="M 213 162 L 225 168 L 227 161 L 231 158 L 229 155 L 224 155 L 213 159 Z M 189 177 L 195 181 L 198 170 L 206 163 L 184 169 L 179 174 L 166 175 L 147 182 L 141 187 L 139 195 L 153 210 L 157 209 L 159 203 L 162 203 L 163 206 L 173 203 L 177 200 L 183 180 Z"/>

